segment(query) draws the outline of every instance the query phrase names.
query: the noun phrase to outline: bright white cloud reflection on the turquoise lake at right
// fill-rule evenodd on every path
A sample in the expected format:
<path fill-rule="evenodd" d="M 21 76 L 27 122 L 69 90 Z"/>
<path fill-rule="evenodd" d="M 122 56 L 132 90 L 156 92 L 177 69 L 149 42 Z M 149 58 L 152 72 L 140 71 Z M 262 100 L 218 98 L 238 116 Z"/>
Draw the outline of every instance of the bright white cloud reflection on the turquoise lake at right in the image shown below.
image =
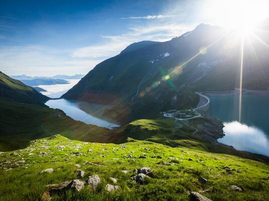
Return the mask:
<path fill-rule="evenodd" d="M 269 156 L 269 142 L 262 130 L 236 121 L 224 123 L 224 126 L 225 137 L 219 139 L 219 142 L 238 150 Z"/>

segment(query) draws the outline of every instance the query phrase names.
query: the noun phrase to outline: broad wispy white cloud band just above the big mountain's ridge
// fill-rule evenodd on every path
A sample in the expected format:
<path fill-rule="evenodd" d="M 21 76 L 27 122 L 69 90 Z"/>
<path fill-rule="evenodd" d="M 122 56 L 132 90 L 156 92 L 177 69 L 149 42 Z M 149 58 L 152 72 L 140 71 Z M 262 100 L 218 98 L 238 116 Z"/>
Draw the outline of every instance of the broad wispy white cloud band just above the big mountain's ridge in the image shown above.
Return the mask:
<path fill-rule="evenodd" d="M 190 31 L 194 26 L 178 24 L 151 25 L 132 27 L 129 32 L 121 35 L 102 36 L 106 43 L 90 45 L 73 50 L 73 58 L 109 58 L 119 54 L 124 48 L 134 42 L 143 40 L 167 41 Z"/>

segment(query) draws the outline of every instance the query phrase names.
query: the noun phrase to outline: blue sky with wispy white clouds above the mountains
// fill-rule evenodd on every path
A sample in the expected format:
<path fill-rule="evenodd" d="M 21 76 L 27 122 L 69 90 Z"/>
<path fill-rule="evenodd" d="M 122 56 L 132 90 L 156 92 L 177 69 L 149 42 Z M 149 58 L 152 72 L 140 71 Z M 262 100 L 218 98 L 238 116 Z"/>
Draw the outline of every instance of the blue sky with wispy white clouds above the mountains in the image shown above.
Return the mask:
<path fill-rule="evenodd" d="M 86 74 L 131 43 L 167 41 L 200 23 L 220 25 L 214 16 L 223 10 L 219 2 L 227 1 L 1 0 L 0 71 Z"/>

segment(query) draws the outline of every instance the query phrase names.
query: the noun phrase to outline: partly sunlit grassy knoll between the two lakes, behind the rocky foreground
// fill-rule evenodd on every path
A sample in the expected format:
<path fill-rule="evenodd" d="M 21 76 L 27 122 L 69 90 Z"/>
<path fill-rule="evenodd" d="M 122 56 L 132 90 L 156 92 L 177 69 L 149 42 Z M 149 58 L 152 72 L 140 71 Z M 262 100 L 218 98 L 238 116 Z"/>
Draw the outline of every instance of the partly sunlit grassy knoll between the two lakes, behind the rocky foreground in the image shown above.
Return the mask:
<path fill-rule="evenodd" d="M 199 118 L 189 121 L 188 124 L 197 128 L 197 125 L 203 124 L 203 122 L 208 122 L 208 120 L 206 118 Z M 195 131 L 193 128 L 190 128 L 182 121 L 177 121 L 177 123 L 182 124 L 183 127 L 174 129 L 175 127 L 178 127 L 178 125 L 174 123 L 174 119 L 172 118 L 159 117 L 156 120 L 137 120 L 121 128 L 117 132 L 119 135 L 126 138 L 130 137 L 137 140 L 151 141 L 170 147 L 184 146 L 213 153 L 231 154 L 242 158 L 269 163 L 269 158 L 266 156 L 246 151 L 238 151 L 231 146 L 220 143 L 211 143 L 208 139 L 200 135 L 200 130 L 198 130 L 196 135 L 193 135 L 193 132 Z M 201 134 L 203 134 L 203 132 L 201 132 Z"/>

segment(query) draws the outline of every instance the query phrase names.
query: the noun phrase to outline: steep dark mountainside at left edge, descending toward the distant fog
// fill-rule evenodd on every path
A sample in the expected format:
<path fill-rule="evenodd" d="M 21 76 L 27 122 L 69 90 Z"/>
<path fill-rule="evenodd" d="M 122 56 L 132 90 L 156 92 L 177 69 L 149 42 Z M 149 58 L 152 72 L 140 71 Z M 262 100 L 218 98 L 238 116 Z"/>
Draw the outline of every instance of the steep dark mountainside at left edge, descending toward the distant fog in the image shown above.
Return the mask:
<path fill-rule="evenodd" d="M 0 97 L 6 97 L 18 103 L 42 105 L 49 98 L 21 81 L 13 79 L 0 71 Z"/>

